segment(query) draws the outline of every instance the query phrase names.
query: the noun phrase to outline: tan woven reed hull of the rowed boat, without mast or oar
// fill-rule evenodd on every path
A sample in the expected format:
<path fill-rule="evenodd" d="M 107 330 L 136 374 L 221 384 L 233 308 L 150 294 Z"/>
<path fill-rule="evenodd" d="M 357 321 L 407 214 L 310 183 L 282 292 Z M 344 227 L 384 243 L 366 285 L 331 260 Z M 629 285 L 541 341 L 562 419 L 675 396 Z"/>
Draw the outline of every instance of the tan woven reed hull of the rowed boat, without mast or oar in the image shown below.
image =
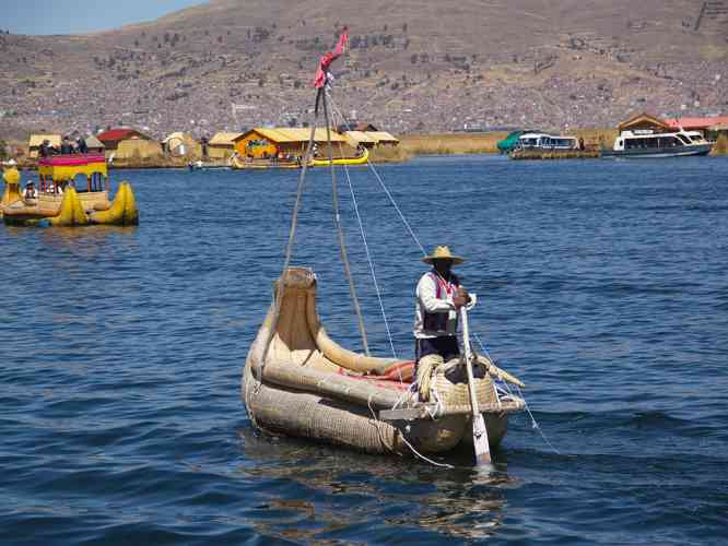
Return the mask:
<path fill-rule="evenodd" d="M 460 365 L 437 377 L 439 402 L 421 402 L 412 389 L 414 363 L 365 356 L 329 337 L 316 310 L 312 270 L 290 268 L 274 290 L 281 298 L 278 320 L 272 304 L 243 375 L 243 399 L 255 426 L 369 453 L 472 451 L 471 406 Z M 522 383 L 486 357 L 478 360 L 479 406 L 490 444 L 498 446 L 508 415 L 525 403 L 498 393 L 493 379 Z"/>

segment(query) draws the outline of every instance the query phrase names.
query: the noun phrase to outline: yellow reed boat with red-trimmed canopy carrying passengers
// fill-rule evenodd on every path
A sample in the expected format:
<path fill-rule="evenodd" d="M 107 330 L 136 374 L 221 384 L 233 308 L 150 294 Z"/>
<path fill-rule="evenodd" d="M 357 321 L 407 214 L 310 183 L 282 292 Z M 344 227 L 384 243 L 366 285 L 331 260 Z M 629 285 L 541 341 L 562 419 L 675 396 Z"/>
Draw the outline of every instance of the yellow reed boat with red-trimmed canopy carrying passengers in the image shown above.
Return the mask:
<path fill-rule="evenodd" d="M 77 176 L 85 185 L 73 186 Z M 136 198 L 129 182 L 121 182 L 114 201 L 109 200 L 106 158 L 103 154 L 72 154 L 45 157 L 38 162 L 38 187 L 32 194 L 22 192 L 20 174 L 3 176 L 5 191 L 0 212 L 5 224 L 52 226 L 90 224 L 136 225 L 139 223 Z"/>

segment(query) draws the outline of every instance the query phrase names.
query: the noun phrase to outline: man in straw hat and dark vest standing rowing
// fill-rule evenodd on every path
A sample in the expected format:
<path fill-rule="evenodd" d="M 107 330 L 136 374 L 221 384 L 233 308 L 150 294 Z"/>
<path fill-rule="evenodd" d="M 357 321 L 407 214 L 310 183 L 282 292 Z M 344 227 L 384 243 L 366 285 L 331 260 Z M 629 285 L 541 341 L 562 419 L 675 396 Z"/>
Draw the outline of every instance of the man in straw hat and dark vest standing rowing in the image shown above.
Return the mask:
<path fill-rule="evenodd" d="M 435 248 L 431 256 L 422 259 L 433 269 L 422 275 L 416 288 L 414 340 L 416 381 L 422 400 L 430 397 L 430 379 L 437 366 L 460 355 L 457 327 L 458 310 L 470 309 L 474 299 L 460 286 L 460 281 L 450 270 L 465 260 L 450 252 L 449 247 Z"/>

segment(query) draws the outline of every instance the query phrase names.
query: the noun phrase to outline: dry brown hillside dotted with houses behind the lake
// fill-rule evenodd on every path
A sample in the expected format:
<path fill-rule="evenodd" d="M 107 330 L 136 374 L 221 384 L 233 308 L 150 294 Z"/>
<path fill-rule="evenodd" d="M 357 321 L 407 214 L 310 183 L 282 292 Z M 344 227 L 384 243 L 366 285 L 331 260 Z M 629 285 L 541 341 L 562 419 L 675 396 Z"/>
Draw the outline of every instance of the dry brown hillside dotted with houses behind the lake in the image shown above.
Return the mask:
<path fill-rule="evenodd" d="M 0 35 L 0 132 L 301 122 L 343 25 L 337 104 L 395 132 L 728 111 L 728 0 L 220 0 L 106 33 Z"/>

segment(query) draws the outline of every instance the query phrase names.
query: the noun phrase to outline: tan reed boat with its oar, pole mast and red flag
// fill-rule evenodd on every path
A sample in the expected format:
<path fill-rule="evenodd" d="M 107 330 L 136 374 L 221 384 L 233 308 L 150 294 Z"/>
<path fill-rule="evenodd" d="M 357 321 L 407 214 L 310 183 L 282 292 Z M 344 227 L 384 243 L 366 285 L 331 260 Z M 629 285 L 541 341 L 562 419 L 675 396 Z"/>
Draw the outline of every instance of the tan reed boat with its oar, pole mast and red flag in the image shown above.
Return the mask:
<path fill-rule="evenodd" d="M 329 126 L 328 100 L 332 98 L 325 83 L 330 81 L 326 74 L 330 62 L 341 55 L 345 39 L 344 28 L 336 52 L 321 59 L 312 127 L 316 124 L 319 106 Z M 308 166 L 313 147 L 312 130 L 305 166 Z M 432 373 L 422 379 L 423 382 L 428 380 L 426 390 L 413 382 L 415 364 L 397 356 L 391 335 L 392 358 L 369 354 L 340 222 L 337 170 L 343 169 L 350 185 L 351 180 L 347 165 L 338 166 L 330 161 L 330 141 L 328 149 L 333 224 L 364 353 L 350 351 L 328 335 L 316 309 L 316 275 L 310 269 L 291 266 L 307 170 L 304 167 L 298 175 L 285 260 L 280 277 L 273 283 L 273 301 L 243 369 L 242 399 L 253 425 L 277 435 L 368 453 L 414 454 L 426 459 L 424 453 L 474 451 L 475 464 L 490 465 L 489 446 L 501 443 L 508 416 L 525 408 L 524 399 L 516 395 L 510 385 L 519 389 L 524 384 L 490 358 L 474 354 L 465 309 L 461 309 L 463 354 L 434 367 Z M 409 228 L 381 177 L 376 175 L 376 178 Z M 351 195 L 356 209 L 353 187 Z M 361 218 L 360 228 L 366 242 Z M 422 249 L 411 229 L 410 234 Z M 368 250 L 367 259 L 371 260 Z M 369 265 L 374 277 L 371 261 Z M 381 304 L 376 278 L 373 280 Z M 389 334 L 383 305 L 381 314 Z"/>

